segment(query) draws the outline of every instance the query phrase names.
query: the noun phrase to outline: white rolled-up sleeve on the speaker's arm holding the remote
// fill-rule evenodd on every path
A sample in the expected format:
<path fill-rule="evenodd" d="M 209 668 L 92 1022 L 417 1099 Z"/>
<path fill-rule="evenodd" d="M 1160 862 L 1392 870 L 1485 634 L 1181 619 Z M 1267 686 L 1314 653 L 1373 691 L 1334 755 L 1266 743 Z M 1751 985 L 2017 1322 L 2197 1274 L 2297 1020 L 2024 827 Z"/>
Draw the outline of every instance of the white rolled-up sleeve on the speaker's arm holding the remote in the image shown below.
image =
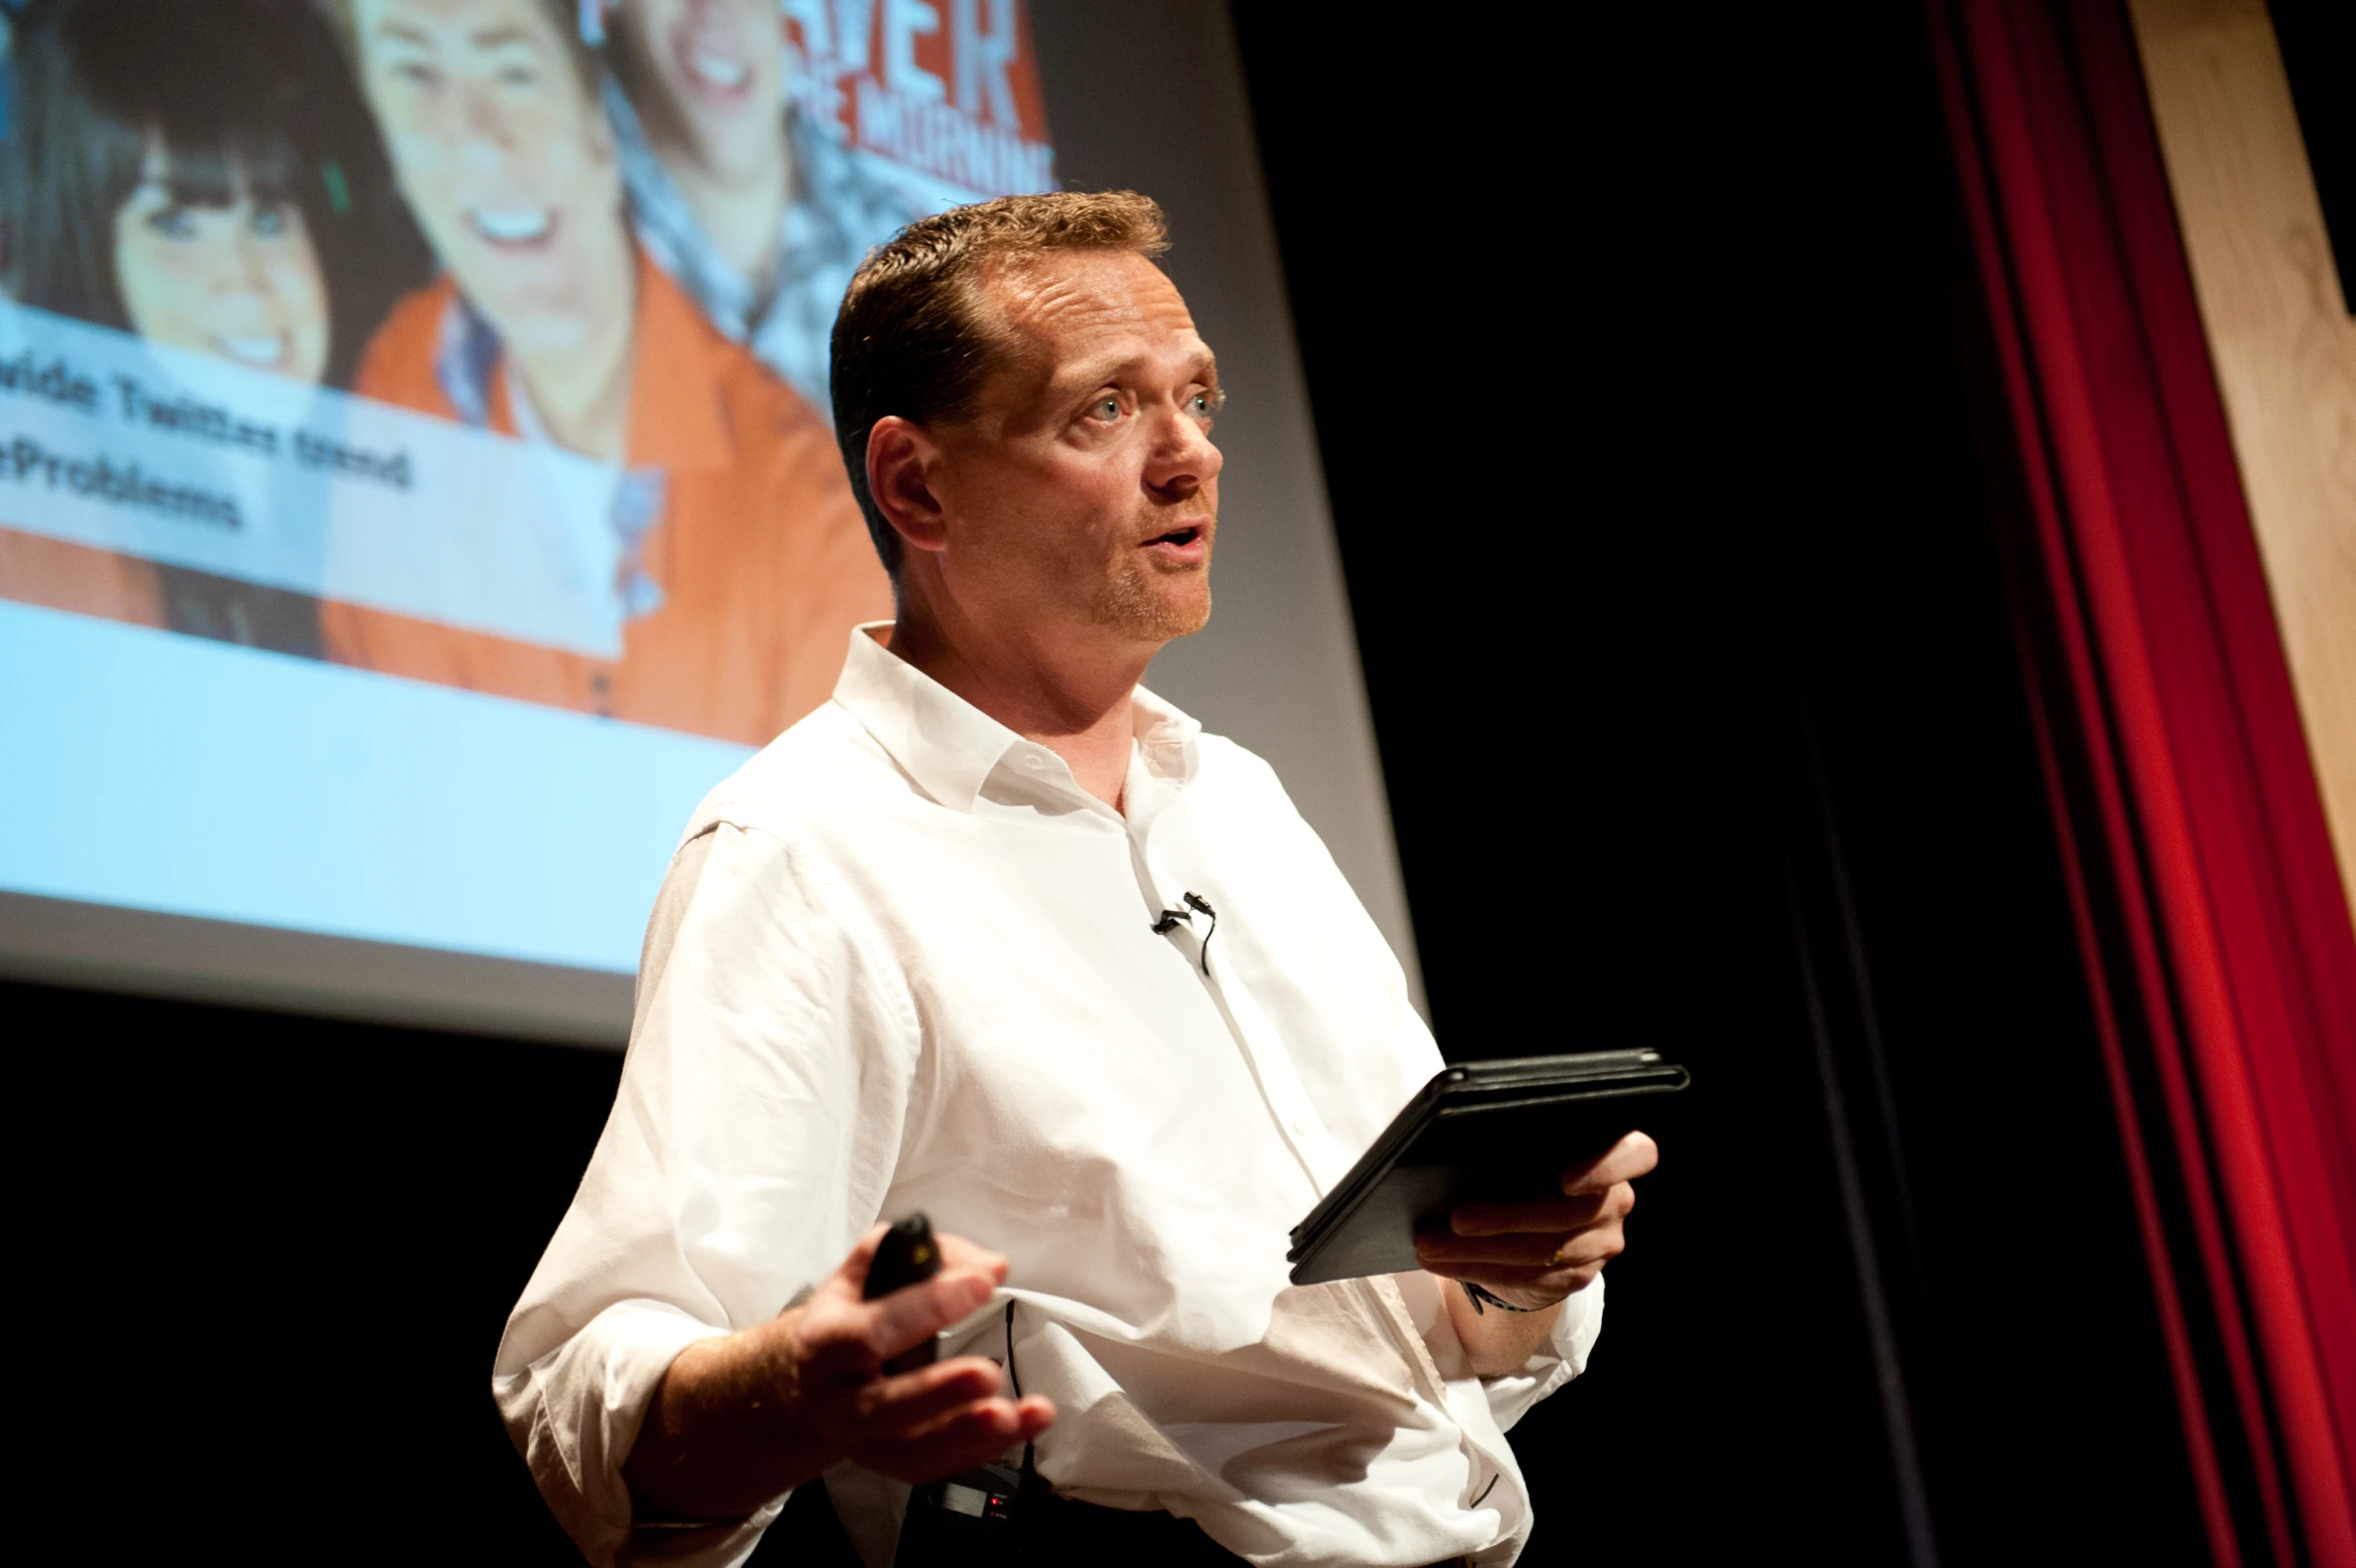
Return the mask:
<path fill-rule="evenodd" d="M 643 1526 L 622 1464 L 671 1358 L 775 1316 L 884 1203 L 916 1024 L 846 906 L 808 852 L 728 822 L 681 845 L 655 904 L 613 1114 L 492 1370 L 601 1568 L 735 1563 L 775 1516 Z"/>

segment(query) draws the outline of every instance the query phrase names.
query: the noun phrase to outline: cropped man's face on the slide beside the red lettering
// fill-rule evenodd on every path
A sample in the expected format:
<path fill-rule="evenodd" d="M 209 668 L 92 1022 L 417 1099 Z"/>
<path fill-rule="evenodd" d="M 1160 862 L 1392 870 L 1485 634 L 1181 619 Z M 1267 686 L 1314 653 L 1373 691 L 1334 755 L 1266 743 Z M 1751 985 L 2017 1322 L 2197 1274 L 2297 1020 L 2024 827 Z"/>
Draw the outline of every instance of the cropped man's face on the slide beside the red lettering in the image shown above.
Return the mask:
<path fill-rule="evenodd" d="M 721 181 L 775 172 L 785 139 L 777 0 L 627 0 L 613 28 L 653 137 Z"/>

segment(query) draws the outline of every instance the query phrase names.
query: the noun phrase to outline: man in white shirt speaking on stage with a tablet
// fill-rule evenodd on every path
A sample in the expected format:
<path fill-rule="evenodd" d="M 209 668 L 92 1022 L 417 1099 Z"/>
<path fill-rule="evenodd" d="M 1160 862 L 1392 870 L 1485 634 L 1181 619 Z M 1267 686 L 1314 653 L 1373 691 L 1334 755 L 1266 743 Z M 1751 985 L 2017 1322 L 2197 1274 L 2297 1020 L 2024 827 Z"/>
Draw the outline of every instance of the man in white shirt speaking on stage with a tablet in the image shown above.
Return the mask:
<path fill-rule="evenodd" d="M 851 285 L 836 428 L 898 619 L 695 815 L 499 1347 L 594 1561 L 740 1561 L 825 1474 L 886 1563 L 886 1479 L 1025 1446 L 1032 1561 L 1529 1535 L 1503 1427 L 1583 1363 L 1654 1149 L 1458 1210 L 1423 1271 L 1286 1285 L 1289 1227 L 1440 1052 L 1268 765 L 1138 685 L 1209 617 L 1218 530 L 1218 372 L 1159 250 L 1138 195 L 1004 198 Z M 907 1210 L 971 1241 L 862 1302 Z M 952 1326 L 973 1354 L 879 1373 Z"/>

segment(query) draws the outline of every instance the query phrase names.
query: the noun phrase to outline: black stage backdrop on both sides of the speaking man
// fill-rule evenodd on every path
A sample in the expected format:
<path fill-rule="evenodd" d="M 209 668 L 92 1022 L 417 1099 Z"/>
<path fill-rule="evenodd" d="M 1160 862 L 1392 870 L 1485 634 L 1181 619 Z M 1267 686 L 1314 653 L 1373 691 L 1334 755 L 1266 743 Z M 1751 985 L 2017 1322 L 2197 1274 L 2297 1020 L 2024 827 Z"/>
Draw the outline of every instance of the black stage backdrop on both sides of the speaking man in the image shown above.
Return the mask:
<path fill-rule="evenodd" d="M 1237 7 L 1440 1038 L 1696 1069 L 1524 1561 L 2193 1561 L 1922 40 L 1571 16 Z M 617 1057 L 0 1017 L 66 1540 L 568 1561 L 485 1377 Z"/>

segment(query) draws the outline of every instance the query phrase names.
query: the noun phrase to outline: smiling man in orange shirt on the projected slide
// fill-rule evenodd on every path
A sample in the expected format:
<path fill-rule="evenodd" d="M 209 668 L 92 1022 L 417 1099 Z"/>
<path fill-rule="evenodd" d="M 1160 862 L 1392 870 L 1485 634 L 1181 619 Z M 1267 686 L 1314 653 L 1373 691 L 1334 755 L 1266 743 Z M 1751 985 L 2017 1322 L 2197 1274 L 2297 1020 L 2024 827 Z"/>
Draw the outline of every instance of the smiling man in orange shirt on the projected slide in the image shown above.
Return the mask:
<path fill-rule="evenodd" d="M 356 391 L 627 469 L 617 662 L 330 605 L 330 657 L 761 744 L 888 603 L 827 421 L 629 240 L 568 0 L 351 0 L 393 174 L 448 273 Z"/>

